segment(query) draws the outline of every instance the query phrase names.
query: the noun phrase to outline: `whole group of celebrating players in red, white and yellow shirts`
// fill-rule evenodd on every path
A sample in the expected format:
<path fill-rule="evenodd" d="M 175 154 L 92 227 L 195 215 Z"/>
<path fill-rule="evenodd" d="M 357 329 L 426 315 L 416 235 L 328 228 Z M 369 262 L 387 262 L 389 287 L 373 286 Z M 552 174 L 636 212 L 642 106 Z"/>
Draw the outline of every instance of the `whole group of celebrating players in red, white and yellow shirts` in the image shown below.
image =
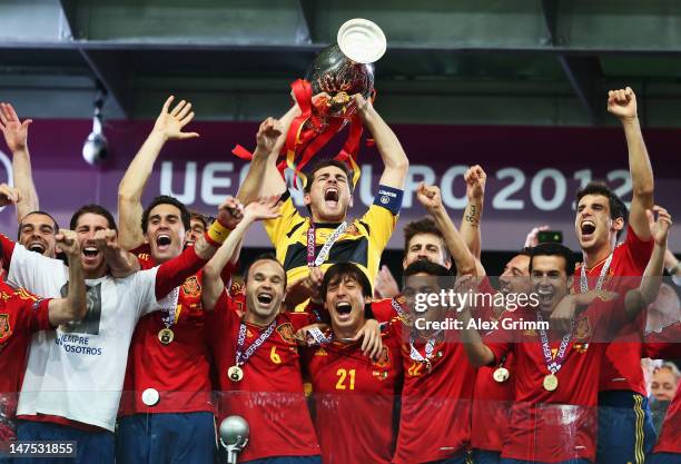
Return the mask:
<path fill-rule="evenodd" d="M 313 164 L 307 211 L 293 201 L 279 161 L 297 102 L 259 126 L 213 221 L 169 196 L 142 205 L 164 146 L 198 137 L 191 103 L 170 97 L 120 181 L 118 221 L 85 205 L 68 228 L 40 210 L 31 121 L 1 103 L 13 187 L 0 204 L 19 227 L 0 236 L 0 463 L 213 464 L 230 415 L 249 425 L 238 457 L 251 464 L 681 463 L 681 388 L 658 436 L 641 367 L 681 358 L 681 322 L 647 332 L 672 218 L 653 201 L 633 90 L 608 95 L 633 197 L 576 192 L 581 263 L 532 243 L 488 278 L 487 176 L 472 166 L 458 226 L 437 187 L 418 187 L 402 289 L 381 259 L 409 162 L 373 102 L 352 98 L 384 165 L 354 219 L 352 157 Z M 273 253 L 245 261 L 255 223 Z M 453 294 L 466 303 L 437 298 Z M 75 443 L 76 457 L 12 454 L 28 442 Z"/>

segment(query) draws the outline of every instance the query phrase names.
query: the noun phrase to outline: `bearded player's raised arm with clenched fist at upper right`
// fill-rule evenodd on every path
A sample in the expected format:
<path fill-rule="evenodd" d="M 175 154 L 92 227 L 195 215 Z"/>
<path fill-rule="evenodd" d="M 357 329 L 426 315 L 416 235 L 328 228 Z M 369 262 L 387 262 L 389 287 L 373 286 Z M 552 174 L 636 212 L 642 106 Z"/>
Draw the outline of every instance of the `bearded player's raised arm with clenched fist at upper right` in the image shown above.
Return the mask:
<path fill-rule="evenodd" d="M 636 112 L 636 96 L 631 87 L 608 92 L 608 111 L 620 120 L 626 137 L 633 189 L 629 224 L 636 236 L 647 241 L 650 239 L 650 230 L 645 210 L 653 207 L 654 179 Z"/>

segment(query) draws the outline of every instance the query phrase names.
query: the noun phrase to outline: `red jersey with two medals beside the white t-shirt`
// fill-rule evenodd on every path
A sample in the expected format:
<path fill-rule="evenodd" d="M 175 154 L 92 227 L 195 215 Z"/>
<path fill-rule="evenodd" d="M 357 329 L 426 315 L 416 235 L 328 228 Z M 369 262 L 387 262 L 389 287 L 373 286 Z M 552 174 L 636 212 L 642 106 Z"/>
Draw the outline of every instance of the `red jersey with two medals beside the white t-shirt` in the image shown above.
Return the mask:
<path fill-rule="evenodd" d="M 142 269 L 156 266 L 147 254 L 138 255 Z M 179 287 L 171 343 L 164 345 L 159 332 L 167 312 L 154 312 L 139 319 L 128 355 L 120 415 L 139 413 L 214 412 L 210 383 L 210 347 L 204 330 L 201 273 Z M 147 406 L 141 393 L 155 388 L 159 402 Z"/>

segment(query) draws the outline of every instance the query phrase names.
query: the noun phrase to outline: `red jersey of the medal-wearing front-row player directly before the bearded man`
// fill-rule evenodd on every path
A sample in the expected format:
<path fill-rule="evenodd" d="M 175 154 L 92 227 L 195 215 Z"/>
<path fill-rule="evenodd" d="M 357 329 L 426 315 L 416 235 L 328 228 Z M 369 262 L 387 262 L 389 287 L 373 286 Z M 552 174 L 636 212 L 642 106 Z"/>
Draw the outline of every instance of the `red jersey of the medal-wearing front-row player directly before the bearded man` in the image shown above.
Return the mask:
<path fill-rule="evenodd" d="M 614 319 L 623 313 L 623 297 L 596 300 L 578 316 L 553 392 L 543 386 L 550 371 L 539 330 L 509 333 L 513 338 L 506 343 L 487 345 L 496 359 L 511 351 L 515 355 L 515 403 L 502 457 L 544 463 L 595 460 L 598 378 L 608 344 L 592 340 L 606 339 Z M 509 317 L 536 320 L 536 310 L 523 308 Z M 551 332 L 549 337 L 555 359 L 562 334 Z"/>

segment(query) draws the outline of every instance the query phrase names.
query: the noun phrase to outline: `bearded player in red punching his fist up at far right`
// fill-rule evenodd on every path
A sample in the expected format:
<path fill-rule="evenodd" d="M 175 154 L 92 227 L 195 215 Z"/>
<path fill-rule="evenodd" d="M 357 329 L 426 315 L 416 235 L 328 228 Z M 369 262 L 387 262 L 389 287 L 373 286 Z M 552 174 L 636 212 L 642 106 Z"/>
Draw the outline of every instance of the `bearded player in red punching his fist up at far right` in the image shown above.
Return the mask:
<path fill-rule="evenodd" d="M 608 111 L 624 129 L 633 197 L 626 239 L 616 245 L 628 223 L 626 207 L 609 188 L 590 184 L 578 192 L 575 230 L 584 261 L 575 269 L 576 292 L 624 292 L 638 286 L 653 248 L 645 209 L 653 206 L 653 172 L 631 88 L 611 90 Z M 570 319 L 568 315 L 565 319 Z M 625 327 L 629 335 L 606 351 L 599 394 L 599 464 L 641 464 L 655 440 L 641 368 L 644 322 Z"/>

